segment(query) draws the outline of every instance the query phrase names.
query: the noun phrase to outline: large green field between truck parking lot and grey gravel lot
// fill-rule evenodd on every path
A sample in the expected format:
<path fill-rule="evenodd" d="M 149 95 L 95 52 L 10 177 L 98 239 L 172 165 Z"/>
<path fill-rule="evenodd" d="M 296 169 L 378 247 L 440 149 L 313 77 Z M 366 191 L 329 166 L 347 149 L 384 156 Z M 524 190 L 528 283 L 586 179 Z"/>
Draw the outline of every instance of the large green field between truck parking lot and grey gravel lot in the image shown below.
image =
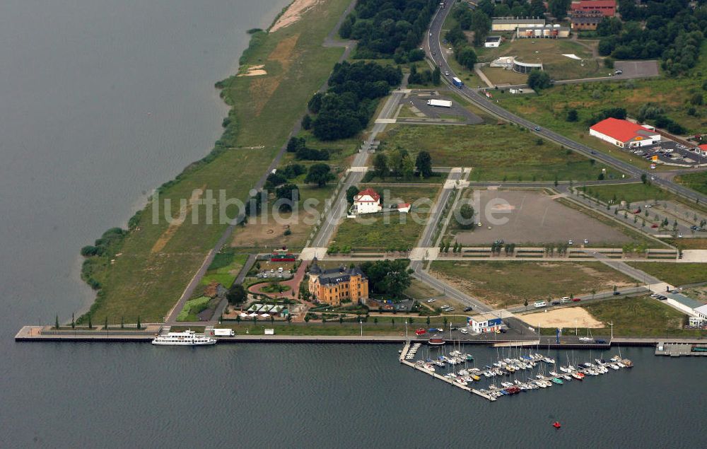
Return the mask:
<path fill-rule="evenodd" d="M 395 125 L 381 136 L 384 149 L 404 148 L 413 157 L 424 150 L 437 167 L 472 167 L 474 181 L 596 180 L 607 168 L 538 139 L 511 124 Z M 610 168 L 607 175 L 619 177 Z"/>

